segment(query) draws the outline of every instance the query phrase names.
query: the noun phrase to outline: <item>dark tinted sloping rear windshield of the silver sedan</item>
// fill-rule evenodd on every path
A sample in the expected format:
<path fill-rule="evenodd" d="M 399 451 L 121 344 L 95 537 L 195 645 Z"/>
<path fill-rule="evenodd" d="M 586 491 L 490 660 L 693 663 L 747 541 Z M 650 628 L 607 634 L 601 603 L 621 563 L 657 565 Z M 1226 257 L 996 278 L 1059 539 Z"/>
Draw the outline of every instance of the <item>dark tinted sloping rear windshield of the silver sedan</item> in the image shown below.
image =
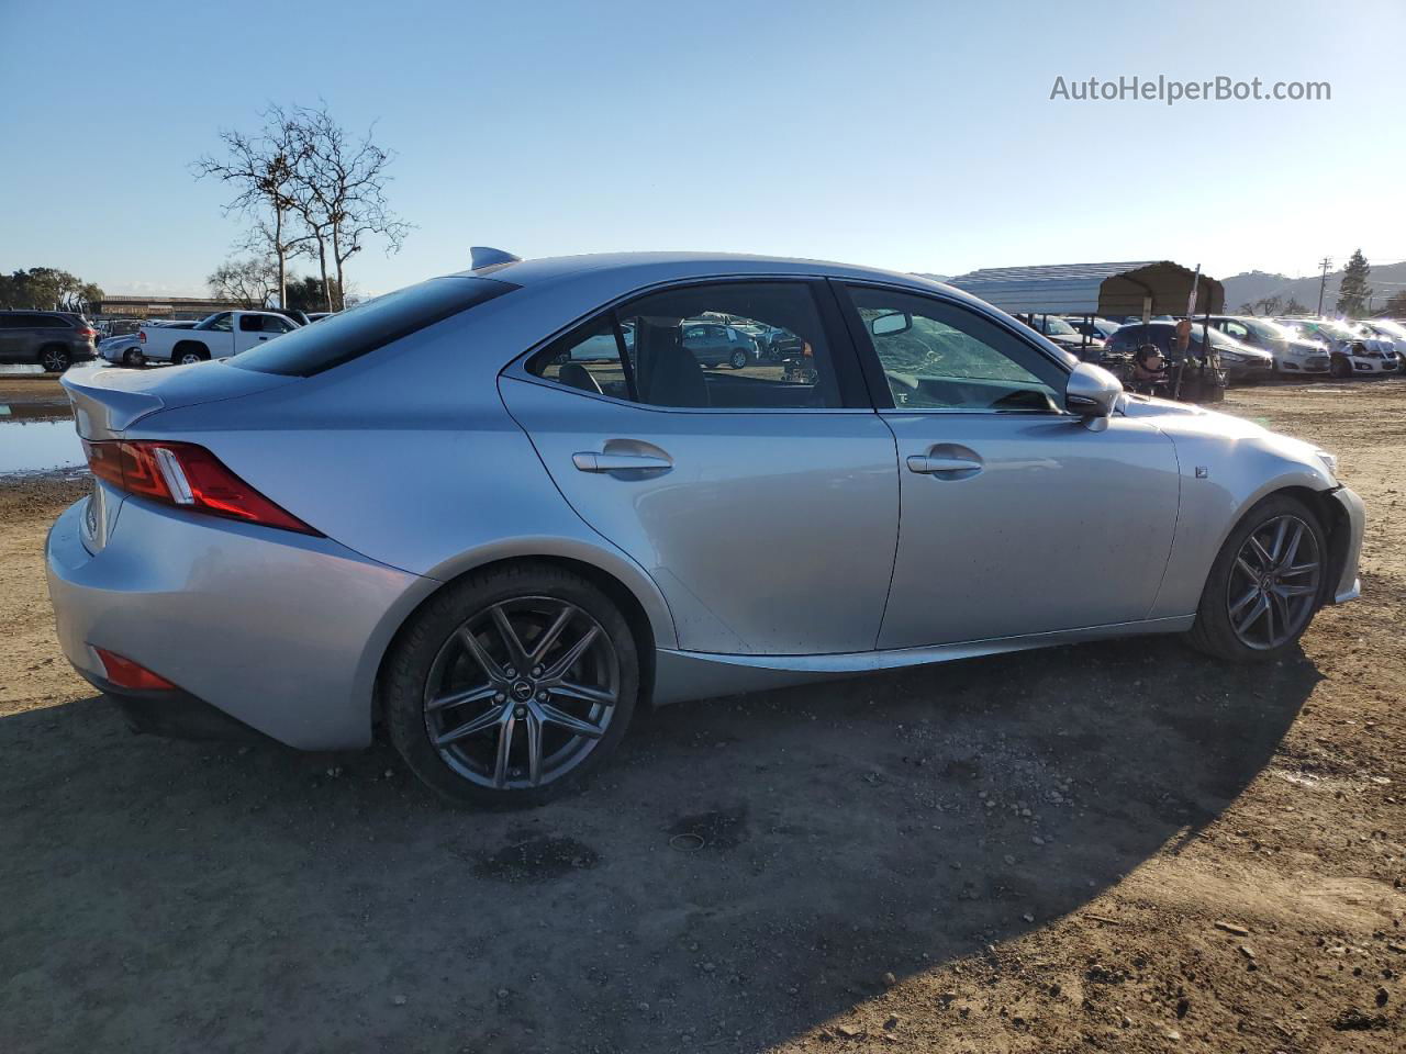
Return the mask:
<path fill-rule="evenodd" d="M 488 278 L 430 278 L 284 333 L 229 361 L 260 374 L 312 377 L 516 288 Z"/>

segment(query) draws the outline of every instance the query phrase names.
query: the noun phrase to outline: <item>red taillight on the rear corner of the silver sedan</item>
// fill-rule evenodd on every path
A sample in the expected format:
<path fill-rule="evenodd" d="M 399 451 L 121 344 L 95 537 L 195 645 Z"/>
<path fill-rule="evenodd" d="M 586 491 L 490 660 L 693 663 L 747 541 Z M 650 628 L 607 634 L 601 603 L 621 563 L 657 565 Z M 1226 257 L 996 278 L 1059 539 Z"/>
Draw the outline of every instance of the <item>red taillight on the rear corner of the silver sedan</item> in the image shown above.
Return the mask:
<path fill-rule="evenodd" d="M 280 509 L 225 468 L 219 458 L 194 443 L 84 440 L 83 448 L 93 475 L 129 495 L 193 513 L 321 535 L 321 531 Z"/>

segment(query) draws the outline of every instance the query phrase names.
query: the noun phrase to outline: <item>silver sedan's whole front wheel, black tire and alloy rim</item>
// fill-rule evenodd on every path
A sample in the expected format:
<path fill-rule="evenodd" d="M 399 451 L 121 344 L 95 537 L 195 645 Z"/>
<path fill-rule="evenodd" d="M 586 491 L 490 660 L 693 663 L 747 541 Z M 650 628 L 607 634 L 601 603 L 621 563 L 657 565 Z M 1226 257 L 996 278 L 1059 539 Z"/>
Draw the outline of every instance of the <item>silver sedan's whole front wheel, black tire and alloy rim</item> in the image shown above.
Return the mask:
<path fill-rule="evenodd" d="M 1226 538 L 1188 634 L 1233 662 L 1282 658 L 1313 621 L 1327 573 L 1327 538 L 1303 502 L 1272 495 Z"/>

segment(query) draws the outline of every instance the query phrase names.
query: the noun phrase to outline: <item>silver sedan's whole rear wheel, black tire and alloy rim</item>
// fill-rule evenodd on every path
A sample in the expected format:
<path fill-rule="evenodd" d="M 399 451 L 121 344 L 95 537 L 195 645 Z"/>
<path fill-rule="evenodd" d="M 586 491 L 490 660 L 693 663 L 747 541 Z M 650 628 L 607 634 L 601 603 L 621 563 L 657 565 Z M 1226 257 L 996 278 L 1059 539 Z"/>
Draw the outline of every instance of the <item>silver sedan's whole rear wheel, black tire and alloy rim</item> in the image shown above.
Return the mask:
<path fill-rule="evenodd" d="M 538 805 L 620 742 L 640 690 L 624 617 L 560 568 L 475 573 L 419 611 L 391 653 L 391 742 L 456 802 Z"/>

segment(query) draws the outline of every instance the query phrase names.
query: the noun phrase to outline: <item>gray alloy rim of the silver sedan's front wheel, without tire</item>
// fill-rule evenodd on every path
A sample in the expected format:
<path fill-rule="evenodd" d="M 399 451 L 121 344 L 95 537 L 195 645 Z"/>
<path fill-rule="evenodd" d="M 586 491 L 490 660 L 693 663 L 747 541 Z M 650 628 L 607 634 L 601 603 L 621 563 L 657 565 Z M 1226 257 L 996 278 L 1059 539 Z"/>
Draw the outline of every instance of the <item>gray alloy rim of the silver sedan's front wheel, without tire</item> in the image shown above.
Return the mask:
<path fill-rule="evenodd" d="M 1292 513 L 1265 520 L 1240 545 L 1226 580 L 1226 616 L 1247 648 L 1272 651 L 1308 627 L 1323 559 L 1313 528 Z"/>

